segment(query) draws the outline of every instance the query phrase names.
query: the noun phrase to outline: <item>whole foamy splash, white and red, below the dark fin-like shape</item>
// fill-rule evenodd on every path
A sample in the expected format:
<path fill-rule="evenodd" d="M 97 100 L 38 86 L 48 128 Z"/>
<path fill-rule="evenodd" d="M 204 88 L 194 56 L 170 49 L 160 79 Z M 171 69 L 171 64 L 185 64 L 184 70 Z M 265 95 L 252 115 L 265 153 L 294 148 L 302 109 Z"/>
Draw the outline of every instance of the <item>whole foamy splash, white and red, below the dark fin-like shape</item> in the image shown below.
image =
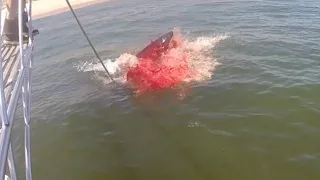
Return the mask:
<path fill-rule="evenodd" d="M 220 65 L 211 50 L 227 38 L 227 35 L 218 35 L 187 40 L 181 37 L 179 29 L 174 29 L 173 39 L 178 42 L 178 47 L 171 49 L 157 62 L 138 60 L 135 55 L 124 53 L 116 59 L 107 59 L 104 63 L 116 81 L 129 85 L 136 92 L 173 88 L 183 83 L 209 80 L 215 68 Z M 100 80 L 102 77 L 99 72 L 104 71 L 101 64 L 87 62 L 78 67 L 78 70 L 95 72 L 96 78 Z M 131 77 L 130 81 L 128 76 Z M 105 77 L 103 79 L 104 83 L 109 83 L 105 82 Z"/>

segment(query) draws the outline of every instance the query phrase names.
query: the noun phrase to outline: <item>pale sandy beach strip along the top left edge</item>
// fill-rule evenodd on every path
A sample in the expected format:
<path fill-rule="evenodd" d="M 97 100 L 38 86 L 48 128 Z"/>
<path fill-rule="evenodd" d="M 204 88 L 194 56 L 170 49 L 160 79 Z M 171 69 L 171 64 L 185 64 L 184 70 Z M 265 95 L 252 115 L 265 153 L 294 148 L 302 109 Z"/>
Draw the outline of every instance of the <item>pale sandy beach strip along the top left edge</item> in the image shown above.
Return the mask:
<path fill-rule="evenodd" d="M 69 0 L 74 10 L 110 0 Z M 70 11 L 65 0 L 37 0 L 32 1 L 32 19 L 41 19 Z"/>

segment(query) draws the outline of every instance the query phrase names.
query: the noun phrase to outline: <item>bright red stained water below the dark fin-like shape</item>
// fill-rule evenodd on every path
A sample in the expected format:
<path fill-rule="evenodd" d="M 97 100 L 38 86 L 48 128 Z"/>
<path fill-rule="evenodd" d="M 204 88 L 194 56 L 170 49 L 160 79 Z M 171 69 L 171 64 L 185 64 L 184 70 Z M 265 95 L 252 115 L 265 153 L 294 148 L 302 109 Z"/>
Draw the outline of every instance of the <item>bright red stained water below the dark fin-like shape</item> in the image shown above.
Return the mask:
<path fill-rule="evenodd" d="M 158 91 L 183 84 L 194 75 L 188 63 L 189 56 L 182 51 L 183 42 L 173 40 L 168 51 L 158 52 L 152 58 L 139 59 L 127 72 L 127 82 L 136 92 Z"/>

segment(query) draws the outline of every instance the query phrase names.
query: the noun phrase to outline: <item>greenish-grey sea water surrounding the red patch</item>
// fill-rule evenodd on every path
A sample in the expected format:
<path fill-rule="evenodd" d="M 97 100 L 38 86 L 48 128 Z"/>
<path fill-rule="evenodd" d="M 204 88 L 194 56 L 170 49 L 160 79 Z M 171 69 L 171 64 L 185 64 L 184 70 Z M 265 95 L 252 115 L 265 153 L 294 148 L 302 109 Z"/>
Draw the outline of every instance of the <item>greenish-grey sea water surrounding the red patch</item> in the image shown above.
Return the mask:
<path fill-rule="evenodd" d="M 319 1 L 114 0 L 76 13 L 121 85 L 70 12 L 34 22 L 34 179 L 320 178 Z M 134 96 L 134 53 L 174 28 L 205 78 Z"/>

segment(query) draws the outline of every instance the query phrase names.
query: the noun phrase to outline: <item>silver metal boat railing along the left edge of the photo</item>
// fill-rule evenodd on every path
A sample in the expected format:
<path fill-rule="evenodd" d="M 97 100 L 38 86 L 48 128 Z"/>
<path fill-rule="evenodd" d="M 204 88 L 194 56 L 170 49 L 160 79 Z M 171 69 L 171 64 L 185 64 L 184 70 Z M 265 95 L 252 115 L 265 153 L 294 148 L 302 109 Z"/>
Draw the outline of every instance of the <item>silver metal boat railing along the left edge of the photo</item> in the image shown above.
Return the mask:
<path fill-rule="evenodd" d="M 26 9 L 28 12 L 28 29 L 29 29 L 29 42 L 28 44 L 23 44 L 22 37 L 22 0 L 19 1 L 19 57 L 17 61 L 19 61 L 20 67 L 16 70 L 5 70 L 4 61 L 14 61 L 13 59 L 4 59 L 2 54 L 2 50 L 0 51 L 0 60 L 2 65 L 0 66 L 0 117 L 1 117 L 1 134 L 0 134 L 0 180 L 10 179 L 17 180 L 17 171 L 15 166 L 15 152 L 12 149 L 11 142 L 11 132 L 14 123 L 14 116 L 16 107 L 18 105 L 18 100 L 22 98 L 22 107 L 24 114 L 24 122 L 25 122 L 25 137 L 24 137 L 24 150 L 25 150 L 25 171 L 26 171 L 26 179 L 32 179 L 32 171 L 31 171 L 31 146 L 30 146 L 30 98 L 31 98 L 31 70 L 32 70 L 32 62 L 33 62 L 33 34 L 32 34 L 32 0 L 29 0 L 26 5 Z M 0 0 L 0 7 L 2 6 L 3 1 Z M 3 21 L 5 18 L 1 17 L 0 19 Z M 4 23 L 1 22 L 0 26 Z M 3 29 L 2 27 L 0 29 Z M 1 33 L 2 34 L 2 33 Z M 2 36 L 0 37 L 1 48 L 3 46 Z M 9 46 L 17 46 L 17 45 L 9 45 Z M 8 48 L 8 47 L 7 47 Z M 9 47 L 10 48 L 10 47 Z M 7 75 L 6 73 L 10 73 Z M 15 74 L 15 75 L 14 75 Z M 11 79 L 11 82 L 5 82 L 4 76 L 14 76 L 15 78 Z M 9 78 L 10 79 L 10 78 Z M 13 80 L 14 79 L 14 80 Z M 13 86 L 11 90 L 5 92 L 8 83 Z M 9 169 L 6 172 L 6 169 Z"/>

